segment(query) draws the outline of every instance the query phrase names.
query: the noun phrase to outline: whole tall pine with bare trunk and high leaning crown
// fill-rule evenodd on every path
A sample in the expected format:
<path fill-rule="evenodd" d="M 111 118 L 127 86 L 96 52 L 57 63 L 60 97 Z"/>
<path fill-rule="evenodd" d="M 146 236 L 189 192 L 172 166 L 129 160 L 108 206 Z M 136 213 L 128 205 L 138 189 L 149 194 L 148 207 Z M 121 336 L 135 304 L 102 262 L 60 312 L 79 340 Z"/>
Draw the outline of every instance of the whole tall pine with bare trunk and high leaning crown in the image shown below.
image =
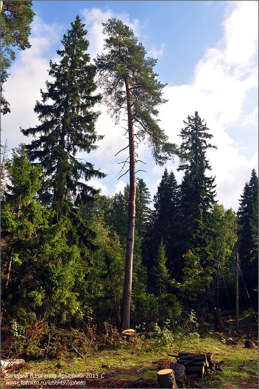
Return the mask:
<path fill-rule="evenodd" d="M 168 137 L 157 124 L 156 106 L 162 99 L 163 84 L 156 79 L 153 71 L 156 60 L 145 58 L 146 51 L 138 43 L 133 31 L 121 20 L 109 19 L 104 25 L 105 54 L 98 55 L 96 65 L 99 82 L 104 88 L 105 102 L 115 119 L 122 112 L 128 118 L 129 148 L 129 203 L 125 278 L 122 300 L 121 329 L 130 327 L 130 303 L 132 288 L 132 264 L 134 251 L 134 230 L 136 217 L 136 140 L 146 140 L 151 146 L 158 163 L 175 152 L 168 144 Z M 127 148 L 126 147 L 126 148 Z"/>

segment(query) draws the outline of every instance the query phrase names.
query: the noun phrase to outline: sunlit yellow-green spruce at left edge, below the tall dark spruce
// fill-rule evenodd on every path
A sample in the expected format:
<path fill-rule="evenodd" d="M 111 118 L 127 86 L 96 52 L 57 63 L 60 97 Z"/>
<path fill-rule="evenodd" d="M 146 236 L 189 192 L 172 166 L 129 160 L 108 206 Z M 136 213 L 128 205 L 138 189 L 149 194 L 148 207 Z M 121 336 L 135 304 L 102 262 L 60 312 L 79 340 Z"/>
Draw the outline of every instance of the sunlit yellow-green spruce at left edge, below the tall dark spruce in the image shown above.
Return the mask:
<path fill-rule="evenodd" d="M 69 220 L 53 224 L 53 211 L 38 201 L 41 169 L 28 161 L 24 148 L 13 150 L 6 169 L 1 314 L 19 318 L 34 312 L 67 321 L 79 307 L 75 281 L 82 282 L 86 271 L 78 244 L 67 243 Z"/>

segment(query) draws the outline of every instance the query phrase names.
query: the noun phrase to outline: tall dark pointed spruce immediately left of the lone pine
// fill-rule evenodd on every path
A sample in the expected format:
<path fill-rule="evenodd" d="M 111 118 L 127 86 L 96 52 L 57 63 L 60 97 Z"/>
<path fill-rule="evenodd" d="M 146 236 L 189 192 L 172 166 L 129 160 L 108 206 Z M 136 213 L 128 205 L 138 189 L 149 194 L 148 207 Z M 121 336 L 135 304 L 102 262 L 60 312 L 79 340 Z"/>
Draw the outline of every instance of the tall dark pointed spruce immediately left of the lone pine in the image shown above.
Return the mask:
<path fill-rule="evenodd" d="M 56 220 L 66 214 L 71 199 L 77 204 L 97 192 L 80 178 L 104 177 L 91 163 L 76 157 L 78 151 L 95 150 L 95 142 L 102 139 L 95 131 L 99 113 L 92 109 L 101 95 L 93 95 L 96 69 L 86 52 L 84 27 L 77 16 L 61 40 L 64 49 L 57 50 L 60 62 L 50 61 L 54 80 L 46 82 L 47 91 L 41 90 L 42 101 L 35 105 L 41 124 L 21 130 L 35 138 L 26 148 L 30 161 L 43 167 L 41 200 L 52 205 Z"/>

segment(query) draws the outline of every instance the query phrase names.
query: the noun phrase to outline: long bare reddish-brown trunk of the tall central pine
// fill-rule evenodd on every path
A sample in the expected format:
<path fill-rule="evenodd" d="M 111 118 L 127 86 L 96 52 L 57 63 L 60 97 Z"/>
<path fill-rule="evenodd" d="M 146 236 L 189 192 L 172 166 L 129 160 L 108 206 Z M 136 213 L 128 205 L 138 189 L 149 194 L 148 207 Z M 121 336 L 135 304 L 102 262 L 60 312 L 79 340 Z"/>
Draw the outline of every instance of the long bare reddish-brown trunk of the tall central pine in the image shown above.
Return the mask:
<path fill-rule="evenodd" d="M 129 191 L 129 208 L 128 208 L 128 230 L 126 246 L 126 263 L 124 274 L 123 298 L 121 307 L 121 326 L 120 330 L 130 328 L 130 302 L 132 288 L 132 266 L 134 250 L 134 232 L 136 217 L 136 169 L 135 169 L 135 146 L 134 146 L 134 129 L 133 115 L 131 106 L 131 93 L 128 80 L 125 80 L 127 94 L 127 111 L 128 111 L 128 133 L 129 133 L 129 156 L 130 156 L 130 191 Z"/>

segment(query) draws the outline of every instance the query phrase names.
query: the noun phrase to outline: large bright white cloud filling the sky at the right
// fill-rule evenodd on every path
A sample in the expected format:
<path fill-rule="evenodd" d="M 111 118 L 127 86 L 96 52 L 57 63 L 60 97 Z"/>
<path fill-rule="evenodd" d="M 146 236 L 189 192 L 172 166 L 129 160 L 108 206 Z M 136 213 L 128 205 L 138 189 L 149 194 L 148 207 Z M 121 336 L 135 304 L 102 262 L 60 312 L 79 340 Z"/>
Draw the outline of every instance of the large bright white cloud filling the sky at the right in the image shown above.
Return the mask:
<path fill-rule="evenodd" d="M 173 142 L 180 142 L 177 134 L 183 120 L 198 111 L 205 118 L 213 143 L 218 150 L 208 152 L 212 174 L 216 175 L 218 200 L 227 207 L 238 207 L 242 187 L 257 166 L 254 155 L 243 155 L 240 145 L 228 135 L 233 126 L 247 131 L 257 144 L 257 101 L 250 110 L 244 109 L 248 95 L 258 89 L 256 66 L 258 42 L 258 3 L 231 2 L 231 13 L 224 20 L 224 36 L 219 46 L 209 48 L 194 69 L 190 85 L 168 85 L 164 97 L 168 102 L 160 107 L 161 126 Z"/>

